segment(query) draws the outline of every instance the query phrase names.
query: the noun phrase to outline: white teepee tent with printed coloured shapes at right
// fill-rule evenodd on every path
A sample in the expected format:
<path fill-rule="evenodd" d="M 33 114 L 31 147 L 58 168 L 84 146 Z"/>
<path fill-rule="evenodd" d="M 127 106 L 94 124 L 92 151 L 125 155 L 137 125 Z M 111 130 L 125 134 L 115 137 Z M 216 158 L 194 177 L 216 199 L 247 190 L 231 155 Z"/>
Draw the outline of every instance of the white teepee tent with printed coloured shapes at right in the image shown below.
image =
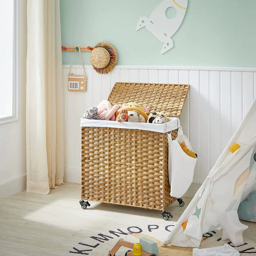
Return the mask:
<path fill-rule="evenodd" d="M 233 143 L 241 147 L 232 154 Z M 221 215 L 238 209 L 256 189 L 255 146 L 256 100 L 164 244 L 199 247 L 204 233 L 220 228 Z"/>

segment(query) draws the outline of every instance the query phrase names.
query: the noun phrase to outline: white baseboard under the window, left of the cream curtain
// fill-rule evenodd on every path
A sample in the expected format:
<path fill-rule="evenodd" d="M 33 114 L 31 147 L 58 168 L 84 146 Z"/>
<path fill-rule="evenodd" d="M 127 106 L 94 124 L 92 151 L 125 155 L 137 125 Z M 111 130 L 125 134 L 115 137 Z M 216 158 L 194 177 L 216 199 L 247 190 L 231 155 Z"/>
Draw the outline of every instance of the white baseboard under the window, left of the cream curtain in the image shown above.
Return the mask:
<path fill-rule="evenodd" d="M 6 181 L 0 184 L 0 199 L 14 195 L 26 189 L 27 175 Z"/>

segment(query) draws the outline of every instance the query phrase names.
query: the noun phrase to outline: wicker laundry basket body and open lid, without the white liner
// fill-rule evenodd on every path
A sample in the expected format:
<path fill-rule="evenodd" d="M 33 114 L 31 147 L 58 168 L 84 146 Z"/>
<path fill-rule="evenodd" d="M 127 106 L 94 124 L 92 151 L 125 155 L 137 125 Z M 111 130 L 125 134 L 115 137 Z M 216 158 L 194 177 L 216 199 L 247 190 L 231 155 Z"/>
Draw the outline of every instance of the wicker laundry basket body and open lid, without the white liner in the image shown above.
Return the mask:
<path fill-rule="evenodd" d="M 149 112 L 180 117 L 188 90 L 187 84 L 116 83 L 108 101 L 137 102 Z M 177 199 L 170 196 L 166 133 L 113 127 L 81 131 L 82 201 L 164 211 Z M 173 139 L 177 131 L 170 131 Z"/>

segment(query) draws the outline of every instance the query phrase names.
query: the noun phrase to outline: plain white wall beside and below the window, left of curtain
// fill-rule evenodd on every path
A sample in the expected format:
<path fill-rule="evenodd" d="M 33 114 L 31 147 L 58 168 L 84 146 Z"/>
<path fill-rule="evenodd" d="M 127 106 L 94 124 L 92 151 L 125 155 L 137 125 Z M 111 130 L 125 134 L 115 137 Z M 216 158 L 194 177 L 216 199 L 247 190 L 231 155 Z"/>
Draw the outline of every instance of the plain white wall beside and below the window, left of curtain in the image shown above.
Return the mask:
<path fill-rule="evenodd" d="M 18 121 L 0 124 L 0 199 L 26 188 L 26 0 L 19 0 Z"/>

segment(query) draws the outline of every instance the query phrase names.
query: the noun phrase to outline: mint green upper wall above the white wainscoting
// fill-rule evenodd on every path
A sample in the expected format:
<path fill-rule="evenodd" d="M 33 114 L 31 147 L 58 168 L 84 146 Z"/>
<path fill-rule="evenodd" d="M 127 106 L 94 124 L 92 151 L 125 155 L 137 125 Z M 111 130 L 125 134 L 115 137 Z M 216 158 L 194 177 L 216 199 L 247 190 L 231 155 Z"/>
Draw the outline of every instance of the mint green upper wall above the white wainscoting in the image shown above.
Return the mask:
<path fill-rule="evenodd" d="M 146 28 L 135 31 L 139 17 L 149 17 L 161 2 L 60 0 L 62 45 L 109 42 L 118 65 L 256 67 L 255 0 L 188 0 L 174 47 L 164 54 Z M 63 52 L 63 64 L 70 64 L 72 55 Z M 90 64 L 89 52 L 83 58 Z"/>

